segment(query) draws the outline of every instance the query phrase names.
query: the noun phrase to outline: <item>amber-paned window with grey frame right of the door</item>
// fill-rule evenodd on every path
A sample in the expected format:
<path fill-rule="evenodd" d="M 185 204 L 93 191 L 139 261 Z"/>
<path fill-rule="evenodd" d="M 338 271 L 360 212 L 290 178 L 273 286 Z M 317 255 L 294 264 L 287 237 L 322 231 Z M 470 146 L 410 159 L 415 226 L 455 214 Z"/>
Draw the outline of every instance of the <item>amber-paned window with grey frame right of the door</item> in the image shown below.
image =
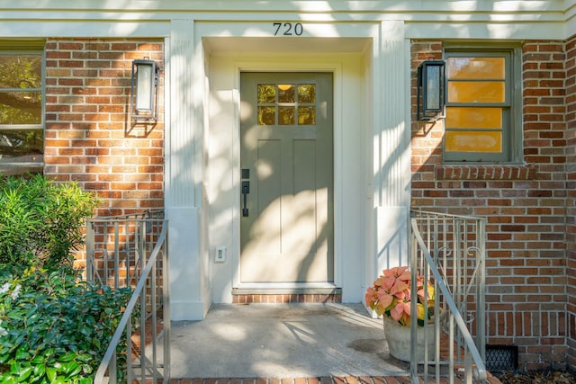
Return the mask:
<path fill-rule="evenodd" d="M 445 162 L 521 160 L 517 49 L 446 49 Z"/>

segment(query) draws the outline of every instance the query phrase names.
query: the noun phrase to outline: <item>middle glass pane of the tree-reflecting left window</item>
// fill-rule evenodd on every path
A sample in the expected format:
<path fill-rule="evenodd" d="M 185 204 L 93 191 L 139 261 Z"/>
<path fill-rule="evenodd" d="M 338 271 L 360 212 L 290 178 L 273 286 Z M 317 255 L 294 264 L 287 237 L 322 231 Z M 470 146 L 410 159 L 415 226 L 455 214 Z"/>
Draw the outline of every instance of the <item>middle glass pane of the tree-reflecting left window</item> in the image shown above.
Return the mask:
<path fill-rule="evenodd" d="M 0 92 L 0 124 L 40 124 L 40 92 Z"/>

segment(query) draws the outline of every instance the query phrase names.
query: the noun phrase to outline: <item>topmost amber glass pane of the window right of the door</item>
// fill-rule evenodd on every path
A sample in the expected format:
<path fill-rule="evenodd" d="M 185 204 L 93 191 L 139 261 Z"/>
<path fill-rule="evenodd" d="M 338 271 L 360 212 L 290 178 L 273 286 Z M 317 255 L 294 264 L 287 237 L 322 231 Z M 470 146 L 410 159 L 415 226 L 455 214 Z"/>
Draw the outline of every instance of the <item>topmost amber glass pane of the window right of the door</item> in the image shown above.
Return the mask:
<path fill-rule="evenodd" d="M 503 79 L 506 58 L 448 58 L 447 76 L 450 79 Z"/>

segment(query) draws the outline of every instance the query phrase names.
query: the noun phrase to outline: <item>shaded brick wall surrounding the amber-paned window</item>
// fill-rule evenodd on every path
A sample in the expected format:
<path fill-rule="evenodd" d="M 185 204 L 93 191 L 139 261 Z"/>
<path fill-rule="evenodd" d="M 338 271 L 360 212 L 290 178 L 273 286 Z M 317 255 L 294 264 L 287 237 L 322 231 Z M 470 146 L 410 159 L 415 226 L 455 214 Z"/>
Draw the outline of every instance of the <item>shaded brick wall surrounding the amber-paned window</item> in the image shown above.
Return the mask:
<path fill-rule="evenodd" d="M 413 102 L 416 68 L 424 59 L 441 57 L 441 42 L 414 41 Z M 414 122 L 411 203 L 488 219 L 487 343 L 518 345 L 523 369 L 562 369 L 567 353 L 563 42 L 525 42 L 522 65 L 526 164 L 443 165 L 443 121 Z M 572 142 L 573 136 L 572 130 Z"/>

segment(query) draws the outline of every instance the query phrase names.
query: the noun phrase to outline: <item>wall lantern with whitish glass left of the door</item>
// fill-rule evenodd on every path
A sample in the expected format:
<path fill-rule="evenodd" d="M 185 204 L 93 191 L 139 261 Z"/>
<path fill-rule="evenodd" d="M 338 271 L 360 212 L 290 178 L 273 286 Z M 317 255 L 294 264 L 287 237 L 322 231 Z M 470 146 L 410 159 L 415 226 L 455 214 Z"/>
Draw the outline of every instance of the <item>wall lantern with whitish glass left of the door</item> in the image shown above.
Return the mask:
<path fill-rule="evenodd" d="M 157 121 L 158 71 L 154 60 L 132 61 L 130 116 L 135 121 Z"/>

